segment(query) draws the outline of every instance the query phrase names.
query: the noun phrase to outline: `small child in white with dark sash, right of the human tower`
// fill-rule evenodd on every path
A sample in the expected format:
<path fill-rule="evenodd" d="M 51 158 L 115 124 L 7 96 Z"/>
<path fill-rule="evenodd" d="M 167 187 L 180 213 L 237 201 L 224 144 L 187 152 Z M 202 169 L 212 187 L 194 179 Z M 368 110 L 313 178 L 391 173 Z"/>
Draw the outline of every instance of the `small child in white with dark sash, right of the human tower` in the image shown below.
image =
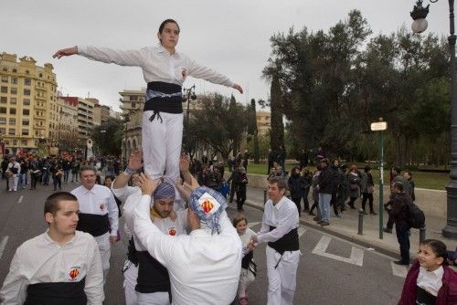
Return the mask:
<path fill-rule="evenodd" d="M 243 245 L 243 255 L 241 260 L 241 275 L 239 276 L 238 297 L 239 304 L 248 304 L 248 293 L 246 289 L 250 286 L 256 277 L 257 266 L 254 263 L 254 255 L 252 248 L 248 247 L 250 244 L 250 237 L 255 235 L 255 232 L 248 227 L 248 219 L 246 216 L 239 214 L 233 219 L 233 226 L 236 227 Z"/>

